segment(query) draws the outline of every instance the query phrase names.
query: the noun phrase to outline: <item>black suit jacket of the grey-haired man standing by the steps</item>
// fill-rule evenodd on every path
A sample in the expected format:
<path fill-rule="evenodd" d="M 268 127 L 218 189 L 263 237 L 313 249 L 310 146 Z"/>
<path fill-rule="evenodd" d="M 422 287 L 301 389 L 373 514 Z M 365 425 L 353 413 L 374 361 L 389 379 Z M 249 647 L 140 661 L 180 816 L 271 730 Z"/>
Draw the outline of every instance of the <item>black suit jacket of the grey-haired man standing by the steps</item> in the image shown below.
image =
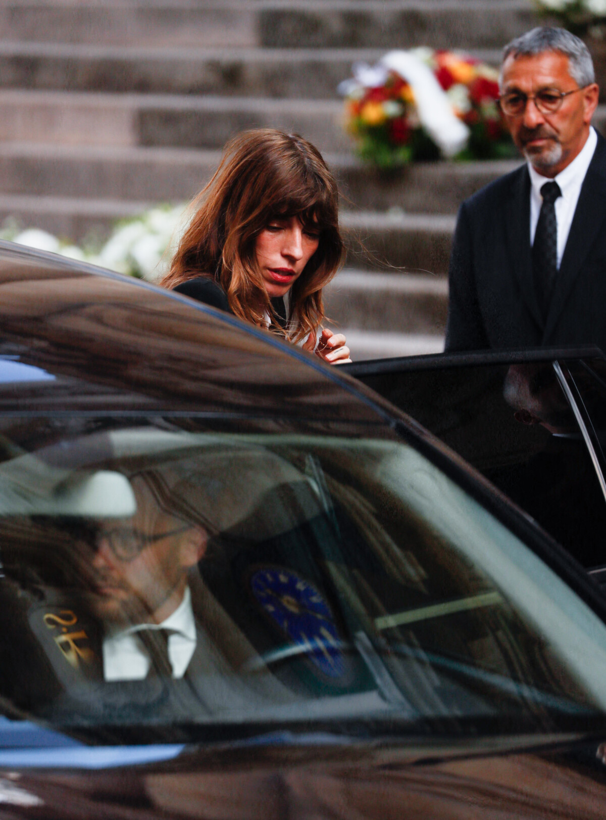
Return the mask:
<path fill-rule="evenodd" d="M 545 321 L 532 280 L 530 186 L 524 165 L 460 207 L 446 351 L 575 344 L 606 350 L 606 141 L 598 135 Z"/>

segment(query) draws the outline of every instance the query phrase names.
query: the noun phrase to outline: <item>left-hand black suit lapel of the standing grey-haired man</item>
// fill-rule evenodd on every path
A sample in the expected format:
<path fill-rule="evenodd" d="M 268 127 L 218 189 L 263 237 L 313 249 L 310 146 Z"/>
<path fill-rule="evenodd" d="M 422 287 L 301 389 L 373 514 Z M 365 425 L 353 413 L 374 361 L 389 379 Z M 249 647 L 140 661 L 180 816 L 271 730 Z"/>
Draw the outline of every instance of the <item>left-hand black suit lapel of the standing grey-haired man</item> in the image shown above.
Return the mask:
<path fill-rule="evenodd" d="M 518 280 L 531 317 L 536 322 L 536 326 L 542 330 L 543 319 L 539 303 L 536 301 L 535 285 L 532 279 L 530 188 L 527 166 L 522 166 L 513 177 L 511 191 L 505 205 L 505 230 L 513 276 Z"/>

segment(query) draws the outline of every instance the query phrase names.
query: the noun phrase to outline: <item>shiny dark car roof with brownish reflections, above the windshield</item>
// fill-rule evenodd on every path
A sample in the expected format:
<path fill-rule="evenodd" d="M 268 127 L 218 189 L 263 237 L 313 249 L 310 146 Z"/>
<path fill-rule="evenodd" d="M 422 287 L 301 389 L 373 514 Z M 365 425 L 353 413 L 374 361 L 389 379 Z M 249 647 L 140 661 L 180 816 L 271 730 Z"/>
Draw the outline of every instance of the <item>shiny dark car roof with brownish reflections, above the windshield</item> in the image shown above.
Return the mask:
<path fill-rule="evenodd" d="M 213 307 L 57 254 L 0 242 L 0 357 L 34 370 L 20 408 L 272 413 L 317 421 L 401 414 L 295 345 Z M 11 372 L 15 371 L 13 364 Z M 11 380 L 11 375 L 0 380 Z M 0 395 L 0 412 L 14 391 Z M 2 393 L 2 391 L 0 391 Z"/>

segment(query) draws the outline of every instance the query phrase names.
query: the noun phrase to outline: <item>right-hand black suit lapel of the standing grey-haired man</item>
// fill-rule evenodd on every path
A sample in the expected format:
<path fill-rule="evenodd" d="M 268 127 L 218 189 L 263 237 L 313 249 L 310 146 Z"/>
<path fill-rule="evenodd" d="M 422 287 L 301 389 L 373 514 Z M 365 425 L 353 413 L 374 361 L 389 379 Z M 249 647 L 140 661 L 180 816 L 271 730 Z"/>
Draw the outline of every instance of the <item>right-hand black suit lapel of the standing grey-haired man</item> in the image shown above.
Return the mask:
<path fill-rule="evenodd" d="M 598 144 L 581 186 L 581 194 L 570 226 L 570 233 L 555 282 L 542 344 L 554 330 L 554 326 L 566 304 L 570 289 L 577 279 L 581 266 L 594 244 L 606 217 L 606 142 L 598 135 Z"/>

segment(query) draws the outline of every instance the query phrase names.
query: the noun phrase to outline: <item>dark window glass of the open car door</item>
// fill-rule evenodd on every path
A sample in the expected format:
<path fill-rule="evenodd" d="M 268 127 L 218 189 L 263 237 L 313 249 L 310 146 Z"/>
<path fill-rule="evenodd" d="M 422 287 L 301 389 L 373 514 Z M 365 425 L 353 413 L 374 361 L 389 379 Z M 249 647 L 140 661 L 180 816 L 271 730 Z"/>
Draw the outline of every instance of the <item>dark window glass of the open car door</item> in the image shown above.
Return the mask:
<path fill-rule="evenodd" d="M 473 464 L 585 567 L 606 563 L 604 495 L 551 362 L 364 381 Z"/>

